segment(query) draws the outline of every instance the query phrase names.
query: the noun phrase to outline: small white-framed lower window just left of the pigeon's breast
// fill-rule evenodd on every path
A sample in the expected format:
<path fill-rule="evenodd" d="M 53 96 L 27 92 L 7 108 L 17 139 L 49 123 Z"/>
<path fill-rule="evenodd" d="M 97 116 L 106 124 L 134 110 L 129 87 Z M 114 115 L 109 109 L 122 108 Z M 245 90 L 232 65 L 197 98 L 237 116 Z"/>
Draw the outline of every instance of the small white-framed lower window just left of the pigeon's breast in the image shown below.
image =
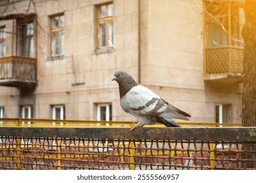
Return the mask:
<path fill-rule="evenodd" d="M 111 104 L 98 104 L 97 105 L 97 120 L 98 121 L 111 121 L 112 120 L 112 105 Z"/>

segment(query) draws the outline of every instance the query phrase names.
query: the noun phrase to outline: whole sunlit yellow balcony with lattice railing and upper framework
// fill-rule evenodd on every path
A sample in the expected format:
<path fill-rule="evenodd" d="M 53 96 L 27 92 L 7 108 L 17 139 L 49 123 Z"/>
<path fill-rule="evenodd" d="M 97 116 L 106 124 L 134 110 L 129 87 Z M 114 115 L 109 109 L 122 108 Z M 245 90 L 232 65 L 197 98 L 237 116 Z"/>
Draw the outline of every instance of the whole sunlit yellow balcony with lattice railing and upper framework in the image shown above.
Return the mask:
<path fill-rule="evenodd" d="M 242 82 L 244 10 L 237 1 L 204 1 L 204 80 Z"/>

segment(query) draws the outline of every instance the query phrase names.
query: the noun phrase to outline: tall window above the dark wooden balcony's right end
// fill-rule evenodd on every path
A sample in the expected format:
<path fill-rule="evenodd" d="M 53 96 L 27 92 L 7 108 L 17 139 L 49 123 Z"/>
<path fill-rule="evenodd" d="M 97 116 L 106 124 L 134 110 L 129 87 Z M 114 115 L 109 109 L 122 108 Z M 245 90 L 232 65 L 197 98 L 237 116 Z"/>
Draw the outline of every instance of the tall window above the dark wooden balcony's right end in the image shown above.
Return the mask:
<path fill-rule="evenodd" d="M 22 56 L 34 57 L 34 26 L 33 23 L 28 23 L 23 25 L 22 30 Z"/>

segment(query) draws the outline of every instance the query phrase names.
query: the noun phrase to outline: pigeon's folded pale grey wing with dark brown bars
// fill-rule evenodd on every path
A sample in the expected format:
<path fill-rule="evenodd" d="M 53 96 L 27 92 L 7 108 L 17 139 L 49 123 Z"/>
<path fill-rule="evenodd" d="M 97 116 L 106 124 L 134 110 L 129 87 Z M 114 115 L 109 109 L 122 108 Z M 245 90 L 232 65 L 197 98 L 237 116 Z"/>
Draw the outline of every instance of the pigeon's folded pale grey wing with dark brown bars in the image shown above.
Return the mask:
<path fill-rule="evenodd" d="M 135 86 L 126 94 L 127 104 L 136 114 L 148 114 L 162 118 L 188 120 L 189 114 L 179 110 L 161 99 L 156 93 L 144 86 Z"/>

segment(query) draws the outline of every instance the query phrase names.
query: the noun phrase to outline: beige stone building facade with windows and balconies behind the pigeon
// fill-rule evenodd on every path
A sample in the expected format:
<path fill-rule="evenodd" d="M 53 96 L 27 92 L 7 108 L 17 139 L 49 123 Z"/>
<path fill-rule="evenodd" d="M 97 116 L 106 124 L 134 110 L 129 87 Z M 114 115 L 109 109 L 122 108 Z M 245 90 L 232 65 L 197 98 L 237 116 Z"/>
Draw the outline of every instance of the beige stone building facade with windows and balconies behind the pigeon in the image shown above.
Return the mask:
<path fill-rule="evenodd" d="M 0 3 L 0 117 L 131 120 L 112 77 L 130 73 L 192 122 L 242 122 L 236 1 Z"/>

